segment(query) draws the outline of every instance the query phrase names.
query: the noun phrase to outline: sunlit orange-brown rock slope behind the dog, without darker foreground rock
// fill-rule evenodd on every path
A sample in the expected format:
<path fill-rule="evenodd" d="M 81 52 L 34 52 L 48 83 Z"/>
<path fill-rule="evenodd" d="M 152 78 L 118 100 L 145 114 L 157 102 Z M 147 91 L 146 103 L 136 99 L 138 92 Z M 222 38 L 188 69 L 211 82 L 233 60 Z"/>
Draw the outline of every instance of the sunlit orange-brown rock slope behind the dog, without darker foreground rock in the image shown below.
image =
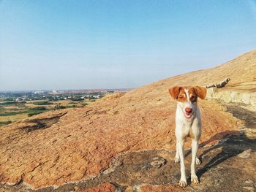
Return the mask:
<path fill-rule="evenodd" d="M 123 152 L 173 150 L 176 103 L 168 88 L 208 85 L 225 77 L 231 78 L 227 86 L 236 87 L 255 82 L 255 74 L 256 51 L 252 51 L 213 69 L 178 75 L 83 108 L 45 112 L 1 127 L 0 182 L 27 183 L 34 188 L 59 186 L 94 178 Z M 217 101 L 199 104 L 203 116 L 200 142 L 216 143 L 211 139 L 215 134 L 241 124 Z"/>

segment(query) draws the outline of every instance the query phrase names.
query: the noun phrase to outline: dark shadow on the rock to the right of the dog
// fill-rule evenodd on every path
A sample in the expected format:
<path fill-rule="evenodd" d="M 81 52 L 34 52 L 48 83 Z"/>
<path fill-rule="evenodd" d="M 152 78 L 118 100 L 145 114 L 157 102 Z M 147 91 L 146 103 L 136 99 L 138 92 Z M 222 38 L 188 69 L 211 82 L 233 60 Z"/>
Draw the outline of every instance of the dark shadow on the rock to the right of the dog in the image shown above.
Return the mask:
<path fill-rule="evenodd" d="M 249 139 L 246 137 L 246 134 L 241 131 L 224 131 L 219 134 L 215 134 L 214 137 L 208 139 L 208 141 L 203 142 L 199 145 L 199 147 L 204 147 L 208 145 L 210 142 L 214 140 L 220 140 L 217 145 L 204 150 L 202 154 L 200 154 L 200 160 L 202 161 L 203 157 L 206 157 L 208 153 L 211 151 L 222 147 L 222 151 L 211 158 L 202 168 L 197 170 L 197 177 L 200 179 L 204 173 L 218 164 L 221 164 L 223 161 L 226 161 L 233 156 L 239 155 L 243 153 L 245 150 L 251 150 L 252 152 L 256 151 L 256 139 Z M 187 152 L 187 155 L 191 153 L 191 150 Z"/>

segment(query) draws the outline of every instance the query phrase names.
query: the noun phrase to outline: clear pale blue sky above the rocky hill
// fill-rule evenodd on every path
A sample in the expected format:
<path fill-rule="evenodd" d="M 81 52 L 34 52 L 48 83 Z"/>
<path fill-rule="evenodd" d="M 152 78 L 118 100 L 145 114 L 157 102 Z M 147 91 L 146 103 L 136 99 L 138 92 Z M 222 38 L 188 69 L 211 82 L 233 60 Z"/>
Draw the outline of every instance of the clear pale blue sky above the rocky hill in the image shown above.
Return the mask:
<path fill-rule="evenodd" d="M 1 91 L 136 88 L 255 48 L 255 0 L 0 0 Z"/>

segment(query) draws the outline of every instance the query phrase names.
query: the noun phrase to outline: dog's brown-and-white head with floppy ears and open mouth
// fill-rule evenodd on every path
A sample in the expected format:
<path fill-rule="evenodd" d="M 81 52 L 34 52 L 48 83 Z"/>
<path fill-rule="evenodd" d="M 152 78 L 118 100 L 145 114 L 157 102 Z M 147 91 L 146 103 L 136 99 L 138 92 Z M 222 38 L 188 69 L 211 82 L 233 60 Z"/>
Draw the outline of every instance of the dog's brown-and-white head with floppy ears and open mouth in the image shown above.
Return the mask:
<path fill-rule="evenodd" d="M 178 102 L 185 118 L 190 119 L 195 115 L 197 98 L 206 98 L 206 88 L 193 87 L 173 87 L 169 89 L 170 96 Z"/>

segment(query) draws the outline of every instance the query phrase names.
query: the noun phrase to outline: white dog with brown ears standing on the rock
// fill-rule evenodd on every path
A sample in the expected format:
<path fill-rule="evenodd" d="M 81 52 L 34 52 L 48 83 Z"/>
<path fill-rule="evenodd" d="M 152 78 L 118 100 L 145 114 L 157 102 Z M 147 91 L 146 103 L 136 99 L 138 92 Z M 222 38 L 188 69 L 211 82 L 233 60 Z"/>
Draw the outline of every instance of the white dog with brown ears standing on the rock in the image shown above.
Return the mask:
<path fill-rule="evenodd" d="M 173 87 L 169 89 L 170 96 L 177 101 L 176 109 L 176 157 L 175 163 L 181 163 L 181 180 L 179 185 L 183 188 L 187 186 L 187 177 L 184 164 L 184 142 L 187 137 L 192 138 L 192 162 L 191 162 L 191 182 L 199 183 L 195 174 L 195 164 L 201 164 L 197 158 L 198 140 L 201 137 L 201 117 L 197 105 L 198 97 L 206 98 L 206 88 L 200 86 L 193 87 Z"/>

